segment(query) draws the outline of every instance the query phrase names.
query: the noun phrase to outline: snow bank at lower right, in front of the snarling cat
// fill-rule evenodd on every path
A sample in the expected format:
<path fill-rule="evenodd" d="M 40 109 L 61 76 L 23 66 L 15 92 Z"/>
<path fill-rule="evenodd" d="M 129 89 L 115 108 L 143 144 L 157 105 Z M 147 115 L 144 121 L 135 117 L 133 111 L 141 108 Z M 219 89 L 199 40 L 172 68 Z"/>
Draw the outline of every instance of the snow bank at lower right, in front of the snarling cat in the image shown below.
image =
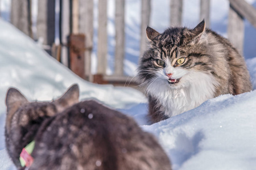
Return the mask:
<path fill-rule="evenodd" d="M 255 169 L 256 91 L 222 95 L 192 111 L 144 126 L 174 169 Z"/>

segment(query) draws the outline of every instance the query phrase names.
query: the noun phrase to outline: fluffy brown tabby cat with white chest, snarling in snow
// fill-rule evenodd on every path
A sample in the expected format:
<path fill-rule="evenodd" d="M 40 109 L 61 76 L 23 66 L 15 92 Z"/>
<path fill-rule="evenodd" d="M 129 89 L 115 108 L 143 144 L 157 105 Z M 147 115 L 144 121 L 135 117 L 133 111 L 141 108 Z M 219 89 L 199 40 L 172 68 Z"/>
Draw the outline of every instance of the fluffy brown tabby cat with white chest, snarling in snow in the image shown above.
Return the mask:
<path fill-rule="evenodd" d="M 244 58 L 230 42 L 205 28 L 146 29 L 150 46 L 138 67 L 149 100 L 151 121 L 158 122 L 223 94 L 252 88 Z"/>

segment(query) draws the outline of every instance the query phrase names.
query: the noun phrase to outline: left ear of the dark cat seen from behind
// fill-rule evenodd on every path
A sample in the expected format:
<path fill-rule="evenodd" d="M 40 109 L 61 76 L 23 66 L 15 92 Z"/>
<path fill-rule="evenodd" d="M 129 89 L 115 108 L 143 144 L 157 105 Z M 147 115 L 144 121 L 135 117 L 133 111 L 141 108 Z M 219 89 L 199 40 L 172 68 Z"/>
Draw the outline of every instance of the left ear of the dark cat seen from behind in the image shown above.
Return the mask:
<path fill-rule="evenodd" d="M 15 88 L 9 88 L 6 94 L 5 104 L 7 114 L 13 114 L 18 110 L 20 105 L 29 103 L 29 101 Z"/>

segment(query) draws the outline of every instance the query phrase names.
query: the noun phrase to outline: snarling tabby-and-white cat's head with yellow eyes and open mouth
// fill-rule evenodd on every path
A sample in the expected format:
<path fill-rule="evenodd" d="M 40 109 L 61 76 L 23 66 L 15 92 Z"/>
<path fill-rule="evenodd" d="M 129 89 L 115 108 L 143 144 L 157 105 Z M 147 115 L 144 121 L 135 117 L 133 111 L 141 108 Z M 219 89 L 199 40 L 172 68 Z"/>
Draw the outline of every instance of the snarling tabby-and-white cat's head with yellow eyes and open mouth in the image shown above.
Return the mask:
<path fill-rule="evenodd" d="M 150 46 L 138 68 L 141 83 L 158 88 L 181 88 L 199 81 L 198 73 L 207 74 L 211 70 L 207 32 L 204 20 L 193 29 L 174 27 L 163 33 L 147 27 Z"/>

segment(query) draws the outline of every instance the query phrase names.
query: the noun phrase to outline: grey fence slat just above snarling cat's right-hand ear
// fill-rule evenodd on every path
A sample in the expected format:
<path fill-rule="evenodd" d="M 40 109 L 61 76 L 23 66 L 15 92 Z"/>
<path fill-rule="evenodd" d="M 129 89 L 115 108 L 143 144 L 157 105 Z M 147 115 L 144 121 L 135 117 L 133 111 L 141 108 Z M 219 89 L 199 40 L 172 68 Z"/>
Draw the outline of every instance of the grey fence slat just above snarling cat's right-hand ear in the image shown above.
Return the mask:
<path fill-rule="evenodd" d="M 210 0 L 200 1 L 200 21 L 205 20 L 206 27 L 210 27 Z"/>

